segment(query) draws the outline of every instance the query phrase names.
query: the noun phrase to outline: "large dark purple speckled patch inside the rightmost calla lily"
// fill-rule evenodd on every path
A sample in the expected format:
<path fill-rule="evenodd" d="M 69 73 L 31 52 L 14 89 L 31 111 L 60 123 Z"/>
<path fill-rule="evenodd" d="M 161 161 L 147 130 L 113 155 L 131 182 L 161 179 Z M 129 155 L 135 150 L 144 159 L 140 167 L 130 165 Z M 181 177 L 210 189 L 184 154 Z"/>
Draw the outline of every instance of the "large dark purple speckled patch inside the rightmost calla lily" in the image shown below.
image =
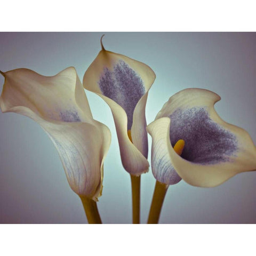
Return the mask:
<path fill-rule="evenodd" d="M 200 164 L 227 162 L 238 149 L 235 135 L 214 123 L 205 108 L 177 109 L 170 118 L 172 146 L 179 139 L 185 140 L 181 157 L 188 161 Z"/>

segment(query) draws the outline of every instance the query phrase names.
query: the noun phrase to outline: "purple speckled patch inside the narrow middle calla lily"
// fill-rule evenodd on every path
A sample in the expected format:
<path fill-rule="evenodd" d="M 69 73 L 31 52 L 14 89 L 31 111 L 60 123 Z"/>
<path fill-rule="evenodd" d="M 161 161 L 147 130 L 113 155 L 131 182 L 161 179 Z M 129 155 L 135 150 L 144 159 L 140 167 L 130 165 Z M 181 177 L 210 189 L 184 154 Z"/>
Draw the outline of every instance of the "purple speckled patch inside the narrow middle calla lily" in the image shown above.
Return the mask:
<path fill-rule="evenodd" d="M 108 68 L 98 82 L 103 95 L 118 103 L 127 114 L 127 130 L 132 127 L 132 117 L 135 106 L 145 94 L 141 78 L 124 61 L 120 60 L 113 71 Z"/>

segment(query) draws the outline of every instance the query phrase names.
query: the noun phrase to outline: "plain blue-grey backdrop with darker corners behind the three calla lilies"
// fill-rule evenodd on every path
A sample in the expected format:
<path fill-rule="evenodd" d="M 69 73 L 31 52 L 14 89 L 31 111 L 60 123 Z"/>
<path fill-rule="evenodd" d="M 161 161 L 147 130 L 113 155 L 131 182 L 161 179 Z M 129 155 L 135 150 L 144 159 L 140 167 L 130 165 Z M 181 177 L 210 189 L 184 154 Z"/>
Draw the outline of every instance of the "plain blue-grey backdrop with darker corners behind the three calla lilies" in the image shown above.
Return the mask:
<path fill-rule="evenodd" d="M 52 76 L 74 66 L 79 78 L 100 51 L 104 33 L 0 33 L 0 69 L 33 69 Z M 226 122 L 243 127 L 256 143 L 255 33 L 105 33 L 106 50 L 145 62 L 156 73 L 146 107 L 154 120 L 174 93 L 200 87 L 218 93 Z M 0 77 L 1 91 L 4 78 Z M 112 143 L 98 208 L 103 223 L 131 223 L 130 175 L 123 169 L 107 104 L 86 91 L 93 116 Z M 0 223 L 87 223 L 70 189 L 57 150 L 28 117 L 0 113 Z M 151 138 L 149 138 L 149 162 Z M 155 179 L 141 178 L 141 223 L 147 222 Z M 255 223 L 256 173 L 236 175 L 215 188 L 184 181 L 167 191 L 159 223 Z"/>

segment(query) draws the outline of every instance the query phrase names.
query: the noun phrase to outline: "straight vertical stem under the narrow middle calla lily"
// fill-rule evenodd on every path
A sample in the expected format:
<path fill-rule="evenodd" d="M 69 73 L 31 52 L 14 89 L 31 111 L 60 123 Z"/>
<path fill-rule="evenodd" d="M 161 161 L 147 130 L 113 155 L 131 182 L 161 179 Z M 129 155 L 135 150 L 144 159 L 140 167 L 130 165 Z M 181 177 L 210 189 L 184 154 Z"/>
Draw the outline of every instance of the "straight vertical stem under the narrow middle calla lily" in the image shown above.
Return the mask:
<path fill-rule="evenodd" d="M 132 182 L 132 223 L 140 223 L 140 176 L 131 175 Z"/>

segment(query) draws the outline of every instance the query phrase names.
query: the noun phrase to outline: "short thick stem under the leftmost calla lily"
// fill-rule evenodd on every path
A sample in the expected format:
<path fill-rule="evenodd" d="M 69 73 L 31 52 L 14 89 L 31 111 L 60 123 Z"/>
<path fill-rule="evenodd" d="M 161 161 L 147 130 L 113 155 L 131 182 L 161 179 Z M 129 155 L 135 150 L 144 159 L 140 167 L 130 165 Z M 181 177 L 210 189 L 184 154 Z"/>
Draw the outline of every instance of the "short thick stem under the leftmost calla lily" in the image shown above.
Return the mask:
<path fill-rule="evenodd" d="M 96 202 L 86 196 L 79 196 L 89 224 L 102 224 Z"/>

